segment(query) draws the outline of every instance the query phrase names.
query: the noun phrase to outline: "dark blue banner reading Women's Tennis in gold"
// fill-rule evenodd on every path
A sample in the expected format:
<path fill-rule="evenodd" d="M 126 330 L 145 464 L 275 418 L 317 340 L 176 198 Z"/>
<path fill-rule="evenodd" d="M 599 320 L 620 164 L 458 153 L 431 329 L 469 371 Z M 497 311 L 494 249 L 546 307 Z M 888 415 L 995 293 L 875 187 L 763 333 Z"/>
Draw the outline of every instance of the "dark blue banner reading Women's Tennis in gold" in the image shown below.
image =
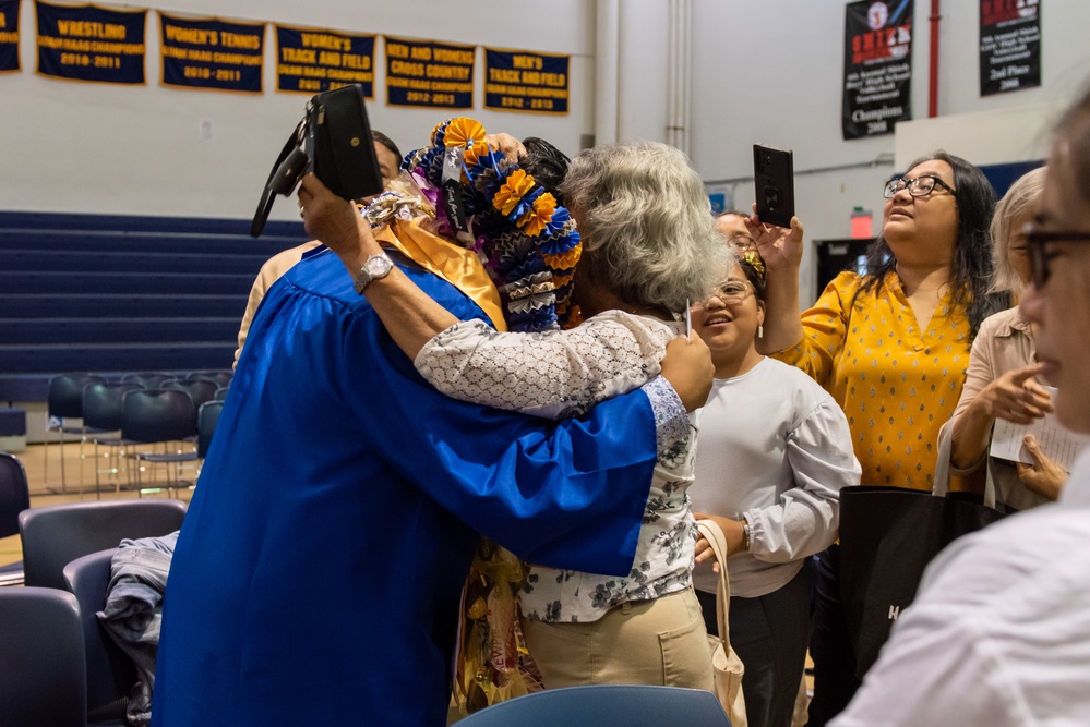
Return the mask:
<path fill-rule="evenodd" d="M 159 12 L 163 85 L 260 94 L 265 24 L 188 20 Z"/>

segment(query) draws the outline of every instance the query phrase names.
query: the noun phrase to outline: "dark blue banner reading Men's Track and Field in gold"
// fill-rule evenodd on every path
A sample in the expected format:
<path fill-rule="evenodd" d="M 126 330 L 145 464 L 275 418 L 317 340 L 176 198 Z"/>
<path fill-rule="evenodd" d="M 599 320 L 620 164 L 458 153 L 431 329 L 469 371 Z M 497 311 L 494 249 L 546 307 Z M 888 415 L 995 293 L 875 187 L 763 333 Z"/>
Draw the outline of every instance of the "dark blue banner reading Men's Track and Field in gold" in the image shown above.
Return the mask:
<path fill-rule="evenodd" d="M 567 113 L 571 56 L 484 49 L 484 108 Z"/>

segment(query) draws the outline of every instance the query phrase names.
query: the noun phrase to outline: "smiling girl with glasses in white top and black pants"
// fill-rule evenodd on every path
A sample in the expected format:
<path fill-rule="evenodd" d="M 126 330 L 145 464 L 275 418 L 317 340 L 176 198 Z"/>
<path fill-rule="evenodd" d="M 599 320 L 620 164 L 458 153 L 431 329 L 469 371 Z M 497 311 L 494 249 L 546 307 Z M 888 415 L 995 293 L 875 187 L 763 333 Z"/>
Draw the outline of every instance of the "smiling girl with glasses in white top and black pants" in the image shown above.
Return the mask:
<path fill-rule="evenodd" d="M 720 218 L 720 230 L 730 221 Z M 794 366 L 757 353 L 764 293 L 764 264 L 751 251 L 693 307 L 716 378 L 696 412 L 688 493 L 697 519 L 717 521 L 727 536 L 731 645 L 745 665 L 750 727 L 789 727 L 810 641 L 807 560 L 836 540 L 840 488 L 859 484 L 860 467 L 833 397 Z M 696 549 L 696 594 L 708 631 L 718 633 L 719 577 L 706 562 L 707 543 Z"/>

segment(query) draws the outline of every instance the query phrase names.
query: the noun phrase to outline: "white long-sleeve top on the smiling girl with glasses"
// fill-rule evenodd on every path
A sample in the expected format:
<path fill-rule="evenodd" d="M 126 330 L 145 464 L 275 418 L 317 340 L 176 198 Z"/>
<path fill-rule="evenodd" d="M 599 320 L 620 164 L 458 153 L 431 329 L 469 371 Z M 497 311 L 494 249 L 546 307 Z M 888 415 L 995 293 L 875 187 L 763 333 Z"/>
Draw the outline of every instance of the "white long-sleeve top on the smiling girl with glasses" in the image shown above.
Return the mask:
<path fill-rule="evenodd" d="M 695 422 L 693 510 L 745 517 L 750 552 L 728 561 L 731 595 L 771 593 L 837 537 L 840 488 L 858 485 L 861 474 L 848 420 L 804 373 L 763 359 L 741 376 L 716 379 Z M 704 564 L 693 580 L 715 593 L 719 577 Z"/>

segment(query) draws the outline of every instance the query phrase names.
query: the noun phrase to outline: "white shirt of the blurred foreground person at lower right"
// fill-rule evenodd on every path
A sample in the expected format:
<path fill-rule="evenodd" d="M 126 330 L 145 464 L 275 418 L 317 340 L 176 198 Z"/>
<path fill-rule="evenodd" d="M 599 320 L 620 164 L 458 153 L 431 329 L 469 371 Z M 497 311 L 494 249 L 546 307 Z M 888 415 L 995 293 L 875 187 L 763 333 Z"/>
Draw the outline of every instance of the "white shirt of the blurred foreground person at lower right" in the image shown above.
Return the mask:
<path fill-rule="evenodd" d="M 1090 725 L 1090 452 L 1059 502 L 929 566 L 834 727 Z"/>

